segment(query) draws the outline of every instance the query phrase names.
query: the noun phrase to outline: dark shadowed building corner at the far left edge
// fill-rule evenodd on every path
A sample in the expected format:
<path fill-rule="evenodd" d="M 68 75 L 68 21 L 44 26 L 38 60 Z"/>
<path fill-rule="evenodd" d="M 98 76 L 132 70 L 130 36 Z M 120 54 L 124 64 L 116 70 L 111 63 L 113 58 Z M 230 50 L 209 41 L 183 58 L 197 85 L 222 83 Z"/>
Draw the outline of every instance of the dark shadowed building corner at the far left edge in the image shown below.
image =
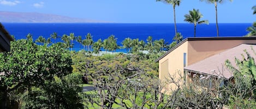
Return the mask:
<path fill-rule="evenodd" d="M 0 23 L 0 52 L 10 51 L 10 41 L 13 41 L 13 37 L 10 36 L 4 26 Z"/>

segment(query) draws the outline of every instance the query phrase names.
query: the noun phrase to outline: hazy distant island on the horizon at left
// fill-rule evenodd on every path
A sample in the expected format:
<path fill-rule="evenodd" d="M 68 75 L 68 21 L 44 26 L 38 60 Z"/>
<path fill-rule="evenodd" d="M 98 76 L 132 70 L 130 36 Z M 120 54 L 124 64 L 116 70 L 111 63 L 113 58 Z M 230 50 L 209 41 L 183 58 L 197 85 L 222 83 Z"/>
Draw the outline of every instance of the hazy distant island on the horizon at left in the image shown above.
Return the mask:
<path fill-rule="evenodd" d="M 67 16 L 41 14 L 37 12 L 0 11 L 0 22 L 6 23 L 110 23 L 106 21 L 72 18 Z"/>

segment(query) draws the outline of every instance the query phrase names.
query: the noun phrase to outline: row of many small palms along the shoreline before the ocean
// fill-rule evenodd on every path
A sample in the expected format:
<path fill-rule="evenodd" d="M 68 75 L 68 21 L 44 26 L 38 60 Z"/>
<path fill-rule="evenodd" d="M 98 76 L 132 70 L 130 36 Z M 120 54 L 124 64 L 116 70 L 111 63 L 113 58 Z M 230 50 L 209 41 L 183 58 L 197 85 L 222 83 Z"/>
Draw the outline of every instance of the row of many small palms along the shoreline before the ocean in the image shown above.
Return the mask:
<path fill-rule="evenodd" d="M 182 41 L 182 35 L 178 33 L 177 36 L 179 36 L 180 39 L 177 40 L 174 38 L 174 40 L 177 40 L 176 42 Z M 142 52 L 143 50 L 147 50 L 149 53 L 163 52 L 164 50 L 168 50 L 173 47 L 170 46 L 173 43 L 168 45 L 168 42 L 165 42 L 164 39 L 153 41 L 152 36 L 148 36 L 146 42 L 144 40 L 130 39 L 128 37 L 121 42 L 122 46 L 117 44 L 117 38 L 115 35 L 110 35 L 108 39 L 104 39 L 103 41 L 102 39 L 99 39 L 98 41 L 94 42 L 90 33 L 85 36 L 85 39 L 82 39 L 82 36 L 75 36 L 74 33 L 70 33 L 69 35 L 64 34 L 62 36 L 58 36 L 57 33 L 52 33 L 47 40 L 45 40 L 43 36 L 39 36 L 35 42 L 49 45 L 52 43 L 51 39 L 53 39 L 54 43 L 56 43 L 56 39 L 58 38 L 61 38 L 63 41 L 61 42 L 63 48 L 73 50 L 74 41 L 76 41 L 79 43 L 79 48 L 83 46 L 83 50 L 96 54 L 99 54 L 99 51 L 102 49 L 104 49 L 106 52 L 116 52 L 117 49 L 126 49 L 127 53 L 130 54 Z M 27 39 L 32 39 L 32 35 L 28 34 Z"/>

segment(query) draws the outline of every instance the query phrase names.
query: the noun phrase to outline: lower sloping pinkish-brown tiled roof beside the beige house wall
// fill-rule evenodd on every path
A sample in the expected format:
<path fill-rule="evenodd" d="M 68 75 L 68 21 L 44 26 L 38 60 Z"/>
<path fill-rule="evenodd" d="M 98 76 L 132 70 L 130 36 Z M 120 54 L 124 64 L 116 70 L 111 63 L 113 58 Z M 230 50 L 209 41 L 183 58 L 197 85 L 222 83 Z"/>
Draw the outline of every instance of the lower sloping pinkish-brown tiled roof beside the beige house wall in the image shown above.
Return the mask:
<path fill-rule="evenodd" d="M 214 76 L 221 76 L 222 78 L 229 79 L 233 74 L 224 65 L 225 61 L 228 59 L 233 66 L 236 67 L 235 57 L 242 60 L 242 55 L 245 54 L 244 50 L 251 54 L 251 56 L 256 59 L 256 54 L 253 50 L 256 50 L 256 46 L 252 44 L 240 44 L 234 48 L 230 48 L 225 52 L 210 56 L 204 60 L 201 60 L 193 65 L 184 67 L 184 70 L 192 71 L 201 74 L 210 74 Z"/>

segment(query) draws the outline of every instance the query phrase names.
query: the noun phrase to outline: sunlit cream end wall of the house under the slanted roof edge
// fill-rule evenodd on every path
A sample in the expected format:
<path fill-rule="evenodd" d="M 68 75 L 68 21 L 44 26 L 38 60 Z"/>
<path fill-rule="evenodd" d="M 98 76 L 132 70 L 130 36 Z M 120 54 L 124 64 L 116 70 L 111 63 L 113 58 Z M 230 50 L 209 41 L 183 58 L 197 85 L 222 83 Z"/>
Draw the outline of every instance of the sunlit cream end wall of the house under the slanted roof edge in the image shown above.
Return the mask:
<path fill-rule="evenodd" d="M 177 74 L 178 70 L 180 70 L 180 73 L 183 76 L 183 53 L 188 52 L 187 48 L 188 41 L 181 44 L 181 46 L 177 47 L 174 51 L 163 57 L 163 59 L 159 60 L 159 79 L 162 80 L 162 82 L 166 83 L 166 87 L 163 88 L 162 92 L 175 89 L 174 84 L 168 84 L 166 82 L 166 79 L 168 79 L 169 77 L 169 75 L 166 75 L 166 73 L 169 73 L 172 77 L 174 77 L 173 75 L 175 75 L 177 79 L 180 77 Z M 168 65 L 168 67 L 165 67 L 166 64 Z"/>

